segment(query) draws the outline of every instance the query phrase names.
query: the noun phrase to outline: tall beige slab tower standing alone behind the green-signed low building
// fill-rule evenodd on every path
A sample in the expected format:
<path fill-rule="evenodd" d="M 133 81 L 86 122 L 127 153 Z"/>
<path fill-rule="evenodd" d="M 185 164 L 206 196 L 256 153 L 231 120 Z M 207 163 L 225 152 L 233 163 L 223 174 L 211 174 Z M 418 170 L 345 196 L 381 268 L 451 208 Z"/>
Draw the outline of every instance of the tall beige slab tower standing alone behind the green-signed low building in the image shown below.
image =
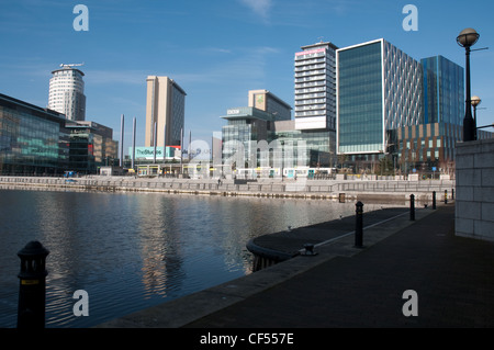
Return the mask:
<path fill-rule="evenodd" d="M 168 77 L 149 76 L 146 81 L 145 146 L 182 146 L 186 91 Z"/>

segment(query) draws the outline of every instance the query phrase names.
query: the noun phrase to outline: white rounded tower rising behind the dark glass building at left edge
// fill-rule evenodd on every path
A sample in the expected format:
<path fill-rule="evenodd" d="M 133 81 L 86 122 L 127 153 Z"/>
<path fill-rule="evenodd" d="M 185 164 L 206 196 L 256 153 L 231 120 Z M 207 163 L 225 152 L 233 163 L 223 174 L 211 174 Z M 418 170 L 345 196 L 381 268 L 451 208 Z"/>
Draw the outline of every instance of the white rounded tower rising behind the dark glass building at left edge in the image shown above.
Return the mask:
<path fill-rule="evenodd" d="M 52 71 L 49 79 L 48 109 L 65 114 L 70 121 L 85 121 L 86 95 L 85 74 L 74 68 L 77 65 L 60 65 L 60 69 Z"/>

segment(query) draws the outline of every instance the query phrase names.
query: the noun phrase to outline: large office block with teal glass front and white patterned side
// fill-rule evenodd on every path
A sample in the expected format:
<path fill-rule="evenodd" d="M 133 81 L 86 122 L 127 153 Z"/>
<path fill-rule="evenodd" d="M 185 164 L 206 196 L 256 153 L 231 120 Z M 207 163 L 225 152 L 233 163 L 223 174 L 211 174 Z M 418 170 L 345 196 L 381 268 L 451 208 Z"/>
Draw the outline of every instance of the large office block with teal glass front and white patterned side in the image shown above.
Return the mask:
<path fill-rule="evenodd" d="M 338 155 L 375 160 L 392 151 L 390 131 L 423 123 L 418 61 L 381 38 L 337 49 L 336 64 Z"/>

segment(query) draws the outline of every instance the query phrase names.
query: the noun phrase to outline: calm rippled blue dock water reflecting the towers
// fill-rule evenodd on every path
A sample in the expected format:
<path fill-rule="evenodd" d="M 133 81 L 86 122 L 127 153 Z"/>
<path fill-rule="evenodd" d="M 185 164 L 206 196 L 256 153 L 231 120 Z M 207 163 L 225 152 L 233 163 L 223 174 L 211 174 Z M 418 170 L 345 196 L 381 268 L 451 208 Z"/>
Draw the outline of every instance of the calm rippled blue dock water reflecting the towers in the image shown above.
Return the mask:
<path fill-rule="evenodd" d="M 0 327 L 16 325 L 16 252 L 31 240 L 50 251 L 46 327 L 90 327 L 248 274 L 249 239 L 340 214 L 355 204 L 0 190 Z M 76 290 L 89 316 L 74 316 Z"/>

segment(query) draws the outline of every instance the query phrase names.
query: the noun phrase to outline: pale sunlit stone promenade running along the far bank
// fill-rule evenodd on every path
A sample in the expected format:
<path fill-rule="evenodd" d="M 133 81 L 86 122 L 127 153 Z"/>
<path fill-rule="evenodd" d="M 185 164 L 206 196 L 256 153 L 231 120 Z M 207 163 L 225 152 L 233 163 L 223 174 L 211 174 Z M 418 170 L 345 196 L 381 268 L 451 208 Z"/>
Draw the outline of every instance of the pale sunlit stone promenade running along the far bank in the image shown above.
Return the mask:
<path fill-rule="evenodd" d="M 349 201 L 430 201 L 433 192 L 441 200 L 445 191 L 452 194 L 452 180 L 317 180 L 317 179 L 177 179 L 87 176 L 65 179 L 49 177 L 0 177 L 8 188 L 40 188 L 67 191 L 158 192 L 170 194 L 207 194 L 223 196 L 267 196 L 302 199 L 345 199 Z"/>

